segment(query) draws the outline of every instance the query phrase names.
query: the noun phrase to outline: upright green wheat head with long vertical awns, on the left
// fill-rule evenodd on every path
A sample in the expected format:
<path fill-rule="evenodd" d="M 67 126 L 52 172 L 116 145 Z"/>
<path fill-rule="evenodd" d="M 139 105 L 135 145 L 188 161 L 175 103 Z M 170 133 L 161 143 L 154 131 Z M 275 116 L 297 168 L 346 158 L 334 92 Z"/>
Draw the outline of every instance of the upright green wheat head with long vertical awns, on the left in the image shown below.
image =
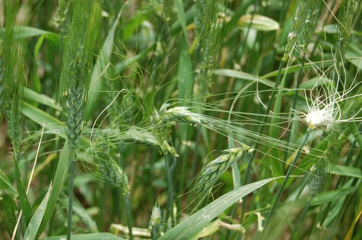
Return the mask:
<path fill-rule="evenodd" d="M 97 2 L 73 1 L 69 26 L 63 37 L 61 84 L 65 126 L 69 146 L 75 154 L 83 128 L 83 115 L 91 81 L 92 48 L 100 18 Z"/>

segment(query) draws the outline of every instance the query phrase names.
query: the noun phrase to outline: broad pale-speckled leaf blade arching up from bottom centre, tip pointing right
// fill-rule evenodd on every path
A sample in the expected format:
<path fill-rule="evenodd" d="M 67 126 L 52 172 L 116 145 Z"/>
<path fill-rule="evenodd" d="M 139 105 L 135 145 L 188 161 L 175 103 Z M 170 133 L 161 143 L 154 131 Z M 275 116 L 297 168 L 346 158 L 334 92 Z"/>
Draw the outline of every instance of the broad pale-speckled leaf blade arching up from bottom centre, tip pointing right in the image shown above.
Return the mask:
<path fill-rule="evenodd" d="M 222 195 L 201 210 L 197 211 L 195 214 L 184 219 L 171 230 L 167 231 L 159 239 L 189 239 L 234 202 L 266 183 L 278 178 L 282 177 L 268 178 L 253 182 Z"/>

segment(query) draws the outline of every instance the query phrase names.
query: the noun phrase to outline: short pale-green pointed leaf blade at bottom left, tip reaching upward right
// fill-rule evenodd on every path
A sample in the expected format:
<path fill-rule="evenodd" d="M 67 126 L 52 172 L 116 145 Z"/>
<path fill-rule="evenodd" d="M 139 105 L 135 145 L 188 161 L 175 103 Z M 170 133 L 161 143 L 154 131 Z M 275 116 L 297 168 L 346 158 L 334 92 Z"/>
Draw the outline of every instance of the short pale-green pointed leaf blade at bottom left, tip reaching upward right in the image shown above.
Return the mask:
<path fill-rule="evenodd" d="M 32 219 L 30 220 L 29 226 L 25 232 L 24 240 L 34 240 L 36 233 L 39 229 L 39 222 L 43 219 L 46 206 L 48 204 L 49 196 L 51 191 L 51 183 L 48 189 L 48 192 L 44 196 L 42 202 L 40 203 L 38 209 L 35 211 Z"/>

